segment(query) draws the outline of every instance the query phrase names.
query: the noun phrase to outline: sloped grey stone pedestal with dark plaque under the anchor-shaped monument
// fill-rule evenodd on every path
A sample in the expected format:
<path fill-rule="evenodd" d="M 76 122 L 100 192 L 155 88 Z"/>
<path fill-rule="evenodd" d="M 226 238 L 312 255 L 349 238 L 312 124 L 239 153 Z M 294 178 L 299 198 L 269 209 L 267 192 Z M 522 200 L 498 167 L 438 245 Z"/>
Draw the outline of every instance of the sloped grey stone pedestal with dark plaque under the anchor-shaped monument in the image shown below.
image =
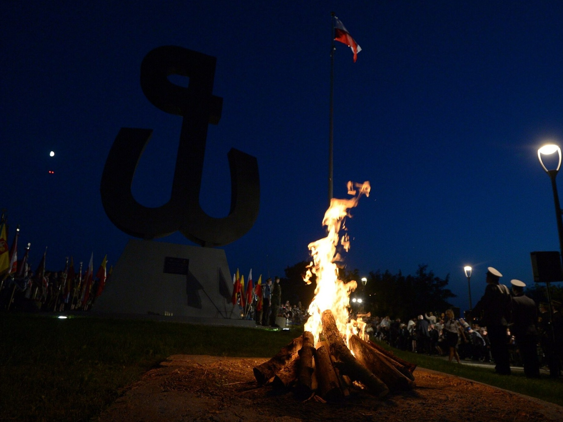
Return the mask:
<path fill-rule="evenodd" d="M 222 249 L 131 239 L 93 315 L 254 326 L 233 306 Z"/>

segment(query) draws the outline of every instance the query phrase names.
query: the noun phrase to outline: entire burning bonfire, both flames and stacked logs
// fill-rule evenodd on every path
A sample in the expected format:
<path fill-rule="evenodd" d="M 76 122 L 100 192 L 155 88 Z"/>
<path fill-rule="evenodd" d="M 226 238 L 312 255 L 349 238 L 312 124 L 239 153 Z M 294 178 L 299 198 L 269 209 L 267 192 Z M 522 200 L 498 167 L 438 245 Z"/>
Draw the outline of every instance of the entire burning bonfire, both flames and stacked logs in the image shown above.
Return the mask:
<path fill-rule="evenodd" d="M 361 195 L 369 196 L 369 182 L 348 182 L 351 199 L 330 201 L 323 226 L 327 237 L 309 244 L 312 261 L 307 267 L 305 282 L 316 276 L 315 297 L 309 306 L 305 332 L 293 339 L 276 356 L 254 367 L 258 384 L 293 388 L 301 399 L 313 396 L 339 401 L 353 388 L 364 388 L 377 397 L 390 390 L 412 388 L 416 365 L 395 357 L 364 334 L 365 323 L 350 318 L 350 292 L 356 281 L 338 279 L 337 263 L 341 257 L 338 245 L 350 247 L 345 233 L 345 218 L 358 205 Z"/>

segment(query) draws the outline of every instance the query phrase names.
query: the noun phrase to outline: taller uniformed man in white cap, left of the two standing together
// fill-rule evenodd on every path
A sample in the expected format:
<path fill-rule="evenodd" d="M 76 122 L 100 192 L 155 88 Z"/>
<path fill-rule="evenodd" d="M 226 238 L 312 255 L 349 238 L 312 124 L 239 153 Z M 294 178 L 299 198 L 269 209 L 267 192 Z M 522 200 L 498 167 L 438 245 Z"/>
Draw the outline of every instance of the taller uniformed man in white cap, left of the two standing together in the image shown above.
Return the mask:
<path fill-rule="evenodd" d="M 497 269 L 488 268 L 485 294 L 473 308 L 473 313 L 482 313 L 482 325 L 485 325 L 489 332 L 491 354 L 496 363 L 495 372 L 510 375 L 507 328 L 511 319 L 512 297 L 507 286 L 499 283 L 501 277 L 502 274 Z"/>

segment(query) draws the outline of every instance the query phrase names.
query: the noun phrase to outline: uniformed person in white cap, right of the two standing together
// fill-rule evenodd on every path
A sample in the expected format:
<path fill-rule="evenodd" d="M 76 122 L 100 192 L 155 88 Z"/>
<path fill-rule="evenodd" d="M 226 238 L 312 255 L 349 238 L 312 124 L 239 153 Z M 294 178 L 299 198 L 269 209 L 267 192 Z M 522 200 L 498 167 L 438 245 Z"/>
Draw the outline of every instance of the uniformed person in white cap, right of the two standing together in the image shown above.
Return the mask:
<path fill-rule="evenodd" d="M 512 285 L 512 334 L 524 362 L 524 374 L 528 378 L 539 377 L 538 331 L 535 321 L 538 311 L 533 299 L 524 294 L 526 284 L 520 280 L 511 280 Z"/>

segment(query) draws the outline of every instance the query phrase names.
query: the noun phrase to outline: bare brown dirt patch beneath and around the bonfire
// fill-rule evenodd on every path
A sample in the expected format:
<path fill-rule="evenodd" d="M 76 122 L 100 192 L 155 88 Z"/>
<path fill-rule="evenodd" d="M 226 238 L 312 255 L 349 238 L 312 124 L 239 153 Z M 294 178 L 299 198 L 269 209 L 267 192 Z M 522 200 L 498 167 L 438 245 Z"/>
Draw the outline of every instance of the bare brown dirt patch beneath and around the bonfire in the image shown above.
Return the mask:
<path fill-rule="evenodd" d="M 343 403 L 298 401 L 258 387 L 267 359 L 175 355 L 150 370 L 97 422 L 136 421 L 562 421 L 563 407 L 425 369 L 416 386 L 379 400 L 354 390 Z"/>

